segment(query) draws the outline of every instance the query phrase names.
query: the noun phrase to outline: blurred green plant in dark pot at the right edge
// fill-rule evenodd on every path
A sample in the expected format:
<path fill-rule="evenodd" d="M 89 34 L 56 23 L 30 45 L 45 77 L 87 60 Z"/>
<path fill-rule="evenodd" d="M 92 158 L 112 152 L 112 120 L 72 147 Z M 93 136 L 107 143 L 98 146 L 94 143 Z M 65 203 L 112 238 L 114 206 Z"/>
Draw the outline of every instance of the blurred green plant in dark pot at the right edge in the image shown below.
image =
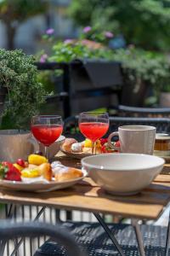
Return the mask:
<path fill-rule="evenodd" d="M 142 107 L 147 95 L 159 104 L 161 90 L 170 82 L 170 61 L 166 55 L 130 46 L 117 49 L 113 59 L 122 63 L 124 105 Z"/>

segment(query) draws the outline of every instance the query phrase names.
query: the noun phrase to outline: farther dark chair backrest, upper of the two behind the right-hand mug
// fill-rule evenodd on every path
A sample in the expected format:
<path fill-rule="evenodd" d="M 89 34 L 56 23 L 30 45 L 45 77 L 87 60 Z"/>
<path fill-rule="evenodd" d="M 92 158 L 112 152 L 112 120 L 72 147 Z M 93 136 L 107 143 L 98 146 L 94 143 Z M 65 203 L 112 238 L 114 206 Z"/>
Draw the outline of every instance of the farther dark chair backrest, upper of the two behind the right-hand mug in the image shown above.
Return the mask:
<path fill-rule="evenodd" d="M 116 115 L 121 117 L 170 117 L 170 108 L 137 108 L 119 105 L 115 110 Z"/>

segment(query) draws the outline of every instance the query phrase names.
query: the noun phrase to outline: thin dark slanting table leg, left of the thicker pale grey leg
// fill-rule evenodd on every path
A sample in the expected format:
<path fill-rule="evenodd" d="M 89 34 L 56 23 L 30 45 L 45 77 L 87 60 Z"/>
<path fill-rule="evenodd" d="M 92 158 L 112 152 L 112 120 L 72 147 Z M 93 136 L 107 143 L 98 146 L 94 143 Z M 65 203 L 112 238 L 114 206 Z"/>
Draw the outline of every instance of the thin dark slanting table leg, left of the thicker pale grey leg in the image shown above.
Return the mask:
<path fill-rule="evenodd" d="M 107 233 L 107 235 L 110 237 L 111 241 L 113 242 L 113 244 L 116 246 L 117 251 L 122 255 L 125 256 L 125 253 L 122 251 L 122 247 L 119 245 L 118 241 L 116 240 L 116 237 L 112 234 L 111 230 L 108 228 L 107 224 L 105 224 L 105 221 L 103 220 L 103 218 L 101 218 L 101 216 L 99 215 L 99 213 L 94 213 L 95 218 L 97 218 L 97 220 L 99 221 L 99 224 L 101 224 L 101 226 L 104 228 L 105 232 Z"/>

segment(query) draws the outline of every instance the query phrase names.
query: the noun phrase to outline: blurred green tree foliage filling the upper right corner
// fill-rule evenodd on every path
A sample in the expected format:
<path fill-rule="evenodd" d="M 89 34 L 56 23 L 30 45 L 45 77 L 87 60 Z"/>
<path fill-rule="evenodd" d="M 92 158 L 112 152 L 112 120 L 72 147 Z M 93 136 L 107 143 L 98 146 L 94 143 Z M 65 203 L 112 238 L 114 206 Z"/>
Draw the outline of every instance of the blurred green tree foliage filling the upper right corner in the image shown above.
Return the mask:
<path fill-rule="evenodd" d="M 127 44 L 170 49 L 170 0 L 72 0 L 70 14 L 80 26 L 122 34 Z"/>

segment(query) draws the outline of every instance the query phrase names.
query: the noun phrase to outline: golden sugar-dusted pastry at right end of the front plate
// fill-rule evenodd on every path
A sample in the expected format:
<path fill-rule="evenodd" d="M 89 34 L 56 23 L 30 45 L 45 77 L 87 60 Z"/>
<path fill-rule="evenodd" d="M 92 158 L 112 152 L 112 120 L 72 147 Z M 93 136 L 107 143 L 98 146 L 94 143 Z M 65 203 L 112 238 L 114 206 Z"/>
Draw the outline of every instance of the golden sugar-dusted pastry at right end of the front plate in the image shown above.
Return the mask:
<path fill-rule="evenodd" d="M 82 177 L 82 171 L 72 167 L 68 167 L 66 172 L 58 172 L 55 174 L 55 180 L 58 182 L 64 182 L 77 177 Z"/>

